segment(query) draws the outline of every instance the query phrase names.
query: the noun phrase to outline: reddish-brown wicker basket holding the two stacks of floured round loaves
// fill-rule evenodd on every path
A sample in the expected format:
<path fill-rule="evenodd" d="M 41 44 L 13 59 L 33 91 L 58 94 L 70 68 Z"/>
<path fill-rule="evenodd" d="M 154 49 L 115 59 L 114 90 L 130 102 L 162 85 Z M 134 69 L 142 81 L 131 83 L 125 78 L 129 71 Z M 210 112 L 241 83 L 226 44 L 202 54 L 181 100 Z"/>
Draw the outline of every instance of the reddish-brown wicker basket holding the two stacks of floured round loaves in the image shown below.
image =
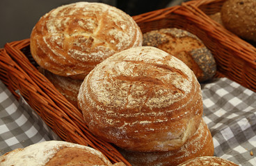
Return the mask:
<path fill-rule="evenodd" d="M 190 3 L 133 17 L 143 33 L 176 27 L 197 35 L 216 58 L 218 77 L 230 77 L 256 90 L 255 49 L 206 19 Z M 241 43 L 239 43 L 239 42 Z M 8 43 L 0 50 L 0 79 L 18 99 L 17 89 L 29 105 L 62 140 L 88 145 L 111 160 L 130 165 L 109 143 L 95 138 L 83 122 L 81 112 L 59 93 L 36 68 L 29 51 L 29 39 Z"/>

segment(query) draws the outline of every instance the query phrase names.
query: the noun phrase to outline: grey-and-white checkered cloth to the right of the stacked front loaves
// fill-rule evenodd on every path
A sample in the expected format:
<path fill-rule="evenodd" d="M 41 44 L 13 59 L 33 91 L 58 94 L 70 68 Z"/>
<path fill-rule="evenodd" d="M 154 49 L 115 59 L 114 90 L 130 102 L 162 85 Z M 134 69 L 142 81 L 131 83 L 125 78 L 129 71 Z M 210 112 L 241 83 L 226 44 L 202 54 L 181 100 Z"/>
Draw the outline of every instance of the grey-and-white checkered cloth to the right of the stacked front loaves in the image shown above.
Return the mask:
<path fill-rule="evenodd" d="M 256 93 L 227 78 L 201 86 L 215 156 L 256 165 Z"/>

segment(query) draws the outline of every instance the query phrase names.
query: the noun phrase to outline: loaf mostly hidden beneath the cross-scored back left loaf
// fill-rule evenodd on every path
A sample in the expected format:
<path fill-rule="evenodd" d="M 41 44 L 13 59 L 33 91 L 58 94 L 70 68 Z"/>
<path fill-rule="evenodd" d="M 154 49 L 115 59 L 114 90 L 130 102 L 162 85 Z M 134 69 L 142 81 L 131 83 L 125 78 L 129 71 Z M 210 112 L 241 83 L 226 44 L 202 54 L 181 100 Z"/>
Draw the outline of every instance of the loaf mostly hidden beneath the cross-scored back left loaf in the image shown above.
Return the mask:
<path fill-rule="evenodd" d="M 74 107 L 77 107 L 77 95 L 79 93 L 80 86 L 83 80 L 74 80 L 71 77 L 64 77 L 56 75 L 43 68 L 40 68 L 40 72 L 47 77 L 47 79 L 54 84 L 56 89 L 69 101 Z"/>

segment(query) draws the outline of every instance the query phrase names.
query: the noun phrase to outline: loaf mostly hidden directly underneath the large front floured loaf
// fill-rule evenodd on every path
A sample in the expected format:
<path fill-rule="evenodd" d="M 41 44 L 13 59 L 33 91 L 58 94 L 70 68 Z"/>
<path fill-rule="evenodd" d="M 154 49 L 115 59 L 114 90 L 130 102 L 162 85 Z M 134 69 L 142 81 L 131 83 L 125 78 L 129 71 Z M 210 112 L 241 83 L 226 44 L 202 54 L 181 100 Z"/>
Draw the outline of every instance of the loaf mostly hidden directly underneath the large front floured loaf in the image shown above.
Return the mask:
<path fill-rule="evenodd" d="M 201 120 L 195 134 L 179 149 L 163 152 L 137 152 L 120 149 L 120 152 L 133 166 L 176 166 L 191 158 L 214 156 L 214 142 L 207 124 Z"/>

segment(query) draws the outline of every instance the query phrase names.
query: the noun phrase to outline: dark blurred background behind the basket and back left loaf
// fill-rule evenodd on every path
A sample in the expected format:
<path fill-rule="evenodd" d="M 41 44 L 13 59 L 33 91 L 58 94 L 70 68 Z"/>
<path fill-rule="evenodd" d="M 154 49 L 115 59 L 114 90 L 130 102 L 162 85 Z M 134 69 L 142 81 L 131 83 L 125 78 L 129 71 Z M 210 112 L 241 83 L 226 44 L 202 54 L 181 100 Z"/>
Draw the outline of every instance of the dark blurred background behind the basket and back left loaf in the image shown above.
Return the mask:
<path fill-rule="evenodd" d="M 127 14 L 134 16 L 144 12 L 179 5 L 182 1 L 186 0 L 96 0 L 94 2 L 115 6 Z M 3 48 L 6 42 L 29 38 L 33 26 L 35 26 L 40 17 L 51 9 L 74 2 L 77 1 L 0 0 L 0 48 Z"/>

